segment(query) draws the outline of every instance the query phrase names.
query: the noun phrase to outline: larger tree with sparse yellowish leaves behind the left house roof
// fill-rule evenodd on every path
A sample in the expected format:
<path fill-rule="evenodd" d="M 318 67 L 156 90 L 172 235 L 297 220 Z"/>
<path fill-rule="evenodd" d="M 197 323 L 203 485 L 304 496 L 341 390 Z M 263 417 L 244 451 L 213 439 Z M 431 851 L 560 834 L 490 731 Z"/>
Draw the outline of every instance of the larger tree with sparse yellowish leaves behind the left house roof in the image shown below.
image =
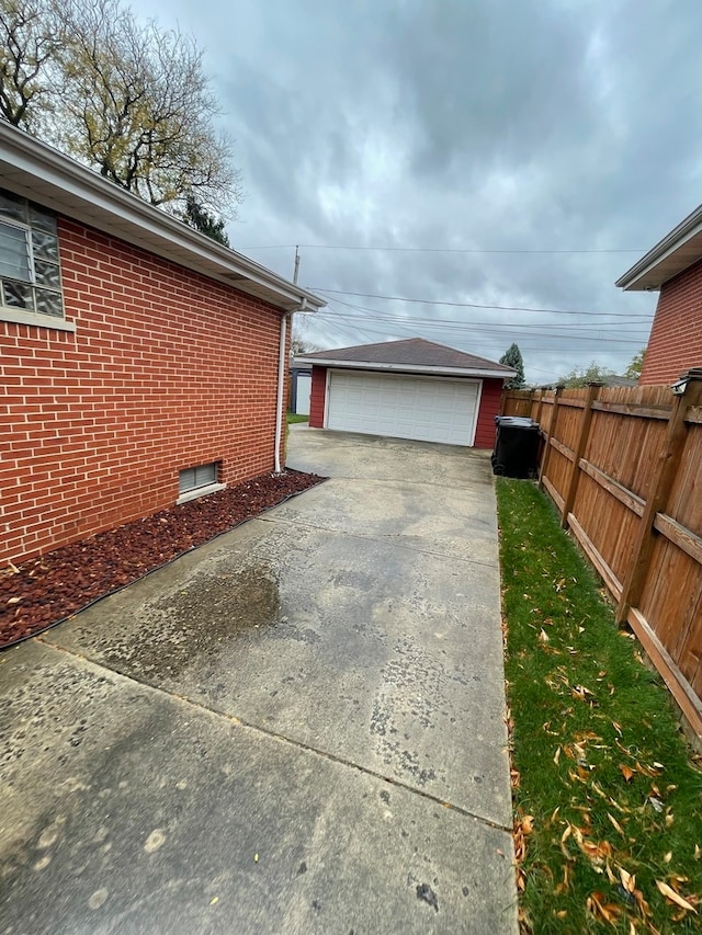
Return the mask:
<path fill-rule="evenodd" d="M 231 141 L 193 39 L 140 24 L 120 0 L 73 2 L 60 54 L 60 145 L 154 205 L 217 214 L 241 201 Z"/>

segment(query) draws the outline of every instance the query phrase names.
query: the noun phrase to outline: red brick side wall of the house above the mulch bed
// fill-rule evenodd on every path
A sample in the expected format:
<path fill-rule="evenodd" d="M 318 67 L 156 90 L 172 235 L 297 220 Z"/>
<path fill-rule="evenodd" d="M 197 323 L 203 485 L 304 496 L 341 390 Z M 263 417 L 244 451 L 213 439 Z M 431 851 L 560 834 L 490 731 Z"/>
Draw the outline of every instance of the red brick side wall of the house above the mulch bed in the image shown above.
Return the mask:
<path fill-rule="evenodd" d="M 75 334 L 0 322 L 0 562 L 273 468 L 280 312 L 59 219 Z"/>

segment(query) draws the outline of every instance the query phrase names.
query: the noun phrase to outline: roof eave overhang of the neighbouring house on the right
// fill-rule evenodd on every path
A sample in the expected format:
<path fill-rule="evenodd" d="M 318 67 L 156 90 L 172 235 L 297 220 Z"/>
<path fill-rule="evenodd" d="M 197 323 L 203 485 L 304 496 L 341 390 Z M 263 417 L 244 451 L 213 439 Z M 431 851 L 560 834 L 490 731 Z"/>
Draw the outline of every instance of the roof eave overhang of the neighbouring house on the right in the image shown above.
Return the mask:
<path fill-rule="evenodd" d="M 702 260 L 702 205 L 656 243 L 616 281 L 629 292 L 659 289 L 668 280 Z"/>

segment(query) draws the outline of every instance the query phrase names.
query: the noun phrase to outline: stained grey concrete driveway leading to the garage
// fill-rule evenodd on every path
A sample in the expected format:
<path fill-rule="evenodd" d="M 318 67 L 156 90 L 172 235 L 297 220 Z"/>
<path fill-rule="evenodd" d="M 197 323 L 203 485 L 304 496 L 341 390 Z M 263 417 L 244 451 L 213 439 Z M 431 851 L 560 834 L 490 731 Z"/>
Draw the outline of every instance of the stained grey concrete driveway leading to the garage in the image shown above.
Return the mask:
<path fill-rule="evenodd" d="M 0 932 L 514 933 L 489 459 L 328 474 L 0 655 Z"/>

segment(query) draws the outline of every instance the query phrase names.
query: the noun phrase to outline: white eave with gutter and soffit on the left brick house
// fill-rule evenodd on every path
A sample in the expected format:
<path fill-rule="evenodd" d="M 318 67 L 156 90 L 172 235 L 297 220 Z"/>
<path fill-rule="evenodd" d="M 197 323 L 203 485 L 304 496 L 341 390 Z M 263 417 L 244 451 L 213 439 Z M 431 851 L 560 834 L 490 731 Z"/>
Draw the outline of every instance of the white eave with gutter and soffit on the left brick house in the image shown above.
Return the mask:
<path fill-rule="evenodd" d="M 0 121 L 0 185 L 173 263 L 260 295 L 285 311 L 316 311 L 326 305 L 4 121 Z"/>

